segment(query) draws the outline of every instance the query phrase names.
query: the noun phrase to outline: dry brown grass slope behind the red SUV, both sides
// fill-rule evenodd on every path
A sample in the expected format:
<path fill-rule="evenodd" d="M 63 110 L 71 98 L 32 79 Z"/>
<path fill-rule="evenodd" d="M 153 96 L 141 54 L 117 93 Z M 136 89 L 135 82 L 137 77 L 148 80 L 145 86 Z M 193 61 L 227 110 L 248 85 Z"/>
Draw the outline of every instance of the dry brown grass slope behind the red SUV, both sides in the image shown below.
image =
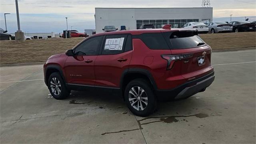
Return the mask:
<path fill-rule="evenodd" d="M 256 47 L 256 32 L 200 34 L 213 50 Z M 0 41 L 0 64 L 44 62 L 53 54 L 64 53 L 84 38 Z"/>

